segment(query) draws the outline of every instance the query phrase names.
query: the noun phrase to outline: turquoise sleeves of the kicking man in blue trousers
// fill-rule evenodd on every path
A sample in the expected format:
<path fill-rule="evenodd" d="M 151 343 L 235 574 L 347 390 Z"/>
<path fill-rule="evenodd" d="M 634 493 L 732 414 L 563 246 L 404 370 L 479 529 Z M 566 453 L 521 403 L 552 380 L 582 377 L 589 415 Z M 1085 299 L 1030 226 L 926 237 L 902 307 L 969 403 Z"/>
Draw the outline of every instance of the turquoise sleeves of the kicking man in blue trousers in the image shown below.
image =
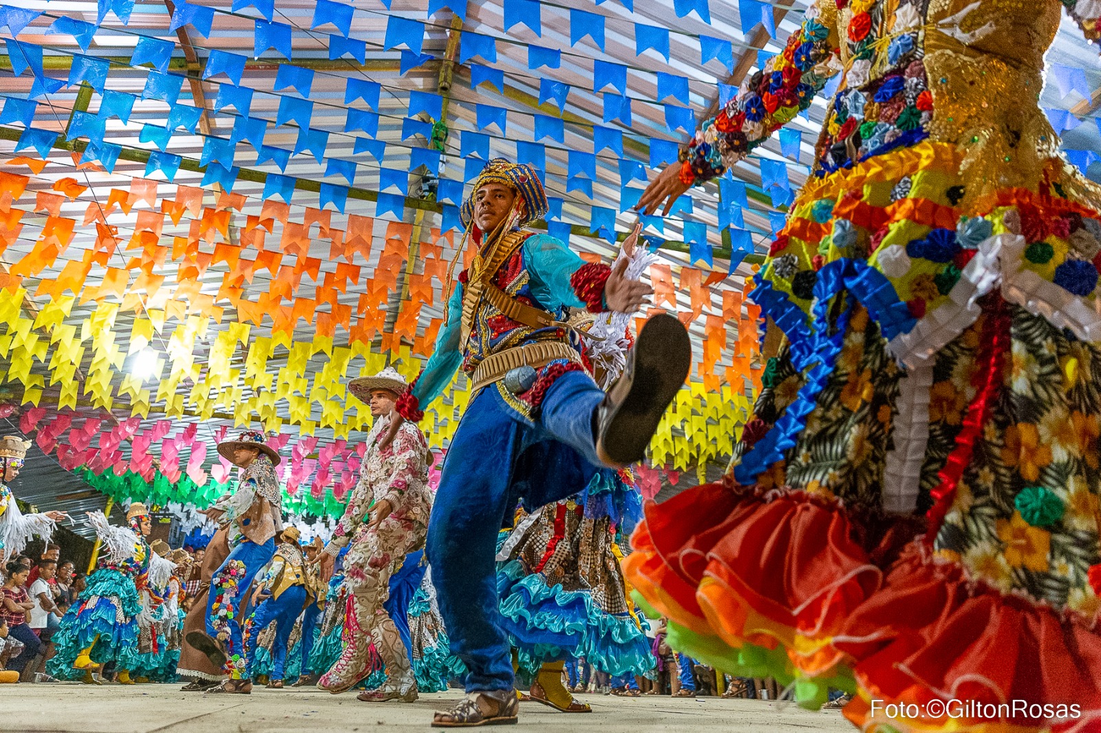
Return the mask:
<path fill-rule="evenodd" d="M 548 234 L 533 234 L 521 248 L 524 269 L 528 275 L 532 295 L 547 310 L 565 307 L 584 308 L 574 293 L 569 278 L 586 263 L 566 243 Z M 464 286 L 458 283 L 447 304 L 448 319 L 436 337 L 436 348 L 424 365 L 424 371 L 413 389 L 413 396 L 424 407 L 438 397 L 455 379 L 462 365 L 459 335 L 462 327 Z"/>

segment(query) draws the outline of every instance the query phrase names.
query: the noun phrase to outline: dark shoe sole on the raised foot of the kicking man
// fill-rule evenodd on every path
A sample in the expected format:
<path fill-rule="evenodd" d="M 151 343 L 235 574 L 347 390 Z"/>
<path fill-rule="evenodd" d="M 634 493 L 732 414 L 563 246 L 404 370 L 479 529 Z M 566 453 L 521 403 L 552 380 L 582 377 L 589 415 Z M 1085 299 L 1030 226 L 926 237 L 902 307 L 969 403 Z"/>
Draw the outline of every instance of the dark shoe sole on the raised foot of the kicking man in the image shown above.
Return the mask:
<path fill-rule="evenodd" d="M 602 461 L 622 467 L 645 458 L 662 416 L 690 369 L 691 341 L 680 321 L 668 315 L 647 320 L 620 376 L 626 380 L 626 395 L 610 407 L 600 425 L 597 453 Z M 619 386 L 610 392 L 614 394 Z"/>

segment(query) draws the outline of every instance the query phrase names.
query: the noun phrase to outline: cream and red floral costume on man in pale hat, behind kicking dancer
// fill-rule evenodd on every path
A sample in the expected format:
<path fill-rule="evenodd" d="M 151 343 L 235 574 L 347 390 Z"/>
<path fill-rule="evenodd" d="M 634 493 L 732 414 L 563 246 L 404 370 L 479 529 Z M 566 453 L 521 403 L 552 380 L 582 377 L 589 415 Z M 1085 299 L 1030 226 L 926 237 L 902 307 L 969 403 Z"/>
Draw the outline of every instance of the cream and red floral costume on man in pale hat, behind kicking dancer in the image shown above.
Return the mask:
<path fill-rule="evenodd" d="M 352 541 L 344 560 L 348 589 L 345 647 L 318 682 L 334 693 L 351 689 L 370 674 L 371 644 L 385 665 L 386 685 L 415 688 L 405 645 L 383 603 L 390 598 L 390 577 L 408 553 L 424 546 L 432 508 L 430 453 L 427 439 L 413 423 L 403 423 L 391 445 L 380 450 L 378 442 L 389 425 L 389 418 L 379 418 L 368 434 L 359 483 L 325 549 L 335 556 Z M 360 528 L 382 501 L 390 503 L 390 515 L 374 529 Z"/>

